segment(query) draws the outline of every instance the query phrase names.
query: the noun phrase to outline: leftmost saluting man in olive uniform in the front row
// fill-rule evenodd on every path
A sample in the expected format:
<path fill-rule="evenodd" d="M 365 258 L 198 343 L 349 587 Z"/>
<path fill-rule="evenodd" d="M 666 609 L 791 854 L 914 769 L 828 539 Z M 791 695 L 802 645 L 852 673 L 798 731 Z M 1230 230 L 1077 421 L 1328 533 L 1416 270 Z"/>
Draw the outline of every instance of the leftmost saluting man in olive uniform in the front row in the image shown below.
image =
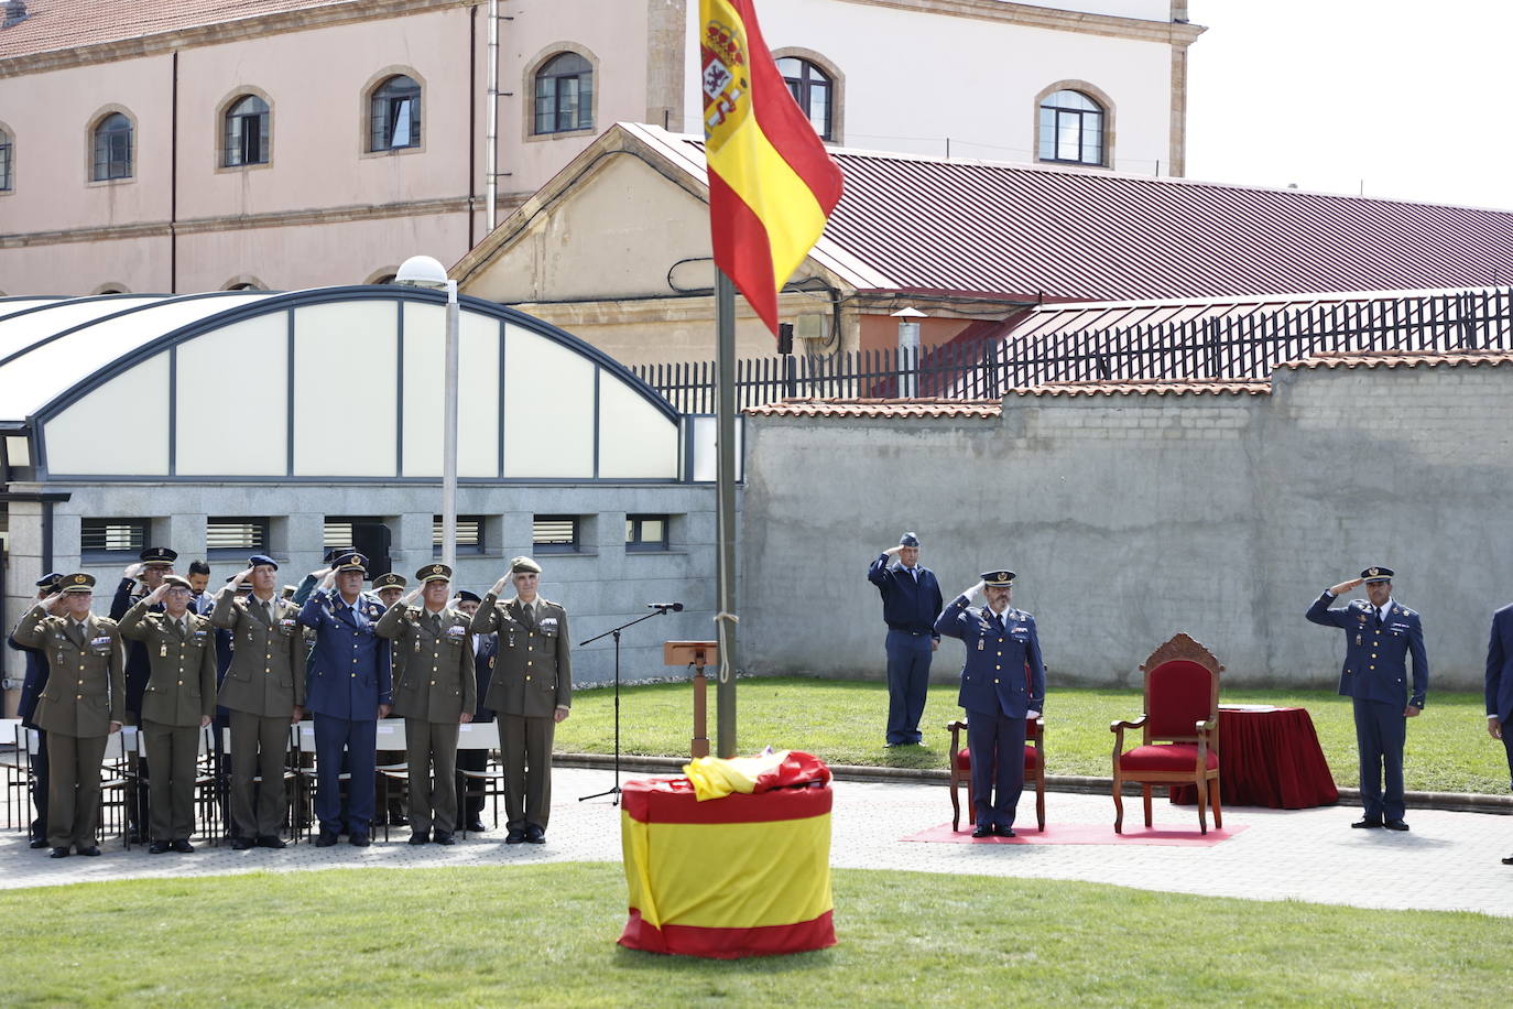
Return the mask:
<path fill-rule="evenodd" d="M 115 622 L 89 613 L 94 575 L 65 575 L 21 619 L 15 640 L 47 652 L 51 675 L 33 716 L 47 732 L 47 843 L 53 858 L 98 855 L 100 761 L 126 719 L 126 652 Z"/>

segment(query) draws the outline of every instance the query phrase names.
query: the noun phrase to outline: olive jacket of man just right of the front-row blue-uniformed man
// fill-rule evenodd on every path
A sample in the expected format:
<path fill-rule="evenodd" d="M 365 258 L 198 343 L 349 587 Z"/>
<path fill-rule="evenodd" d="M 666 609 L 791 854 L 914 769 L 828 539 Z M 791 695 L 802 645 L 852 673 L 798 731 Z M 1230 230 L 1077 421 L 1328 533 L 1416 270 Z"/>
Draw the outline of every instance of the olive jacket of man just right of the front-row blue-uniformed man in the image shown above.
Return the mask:
<path fill-rule="evenodd" d="M 449 722 L 478 706 L 468 614 L 442 610 L 442 632 L 431 632 L 424 607 L 393 604 L 374 632 L 393 640 L 393 711 L 401 719 Z"/>

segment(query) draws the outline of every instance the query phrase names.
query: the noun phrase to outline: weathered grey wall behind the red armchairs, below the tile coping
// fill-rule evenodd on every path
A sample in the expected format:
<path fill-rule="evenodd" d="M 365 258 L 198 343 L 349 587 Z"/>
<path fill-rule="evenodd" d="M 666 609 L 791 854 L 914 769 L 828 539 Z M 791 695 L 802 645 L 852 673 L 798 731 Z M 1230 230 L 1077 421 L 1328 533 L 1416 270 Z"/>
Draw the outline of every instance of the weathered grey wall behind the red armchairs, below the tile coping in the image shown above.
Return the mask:
<path fill-rule="evenodd" d="M 1513 598 L 1510 442 L 1513 366 L 1489 363 L 1283 368 L 1269 395 L 1014 395 L 982 421 L 752 418 L 743 666 L 881 678 L 865 569 L 911 528 L 947 598 L 1018 572 L 1052 685 L 1138 684 L 1186 631 L 1232 685 L 1331 688 L 1341 635 L 1303 613 L 1393 567 L 1433 703 L 1480 687 Z M 935 678 L 959 669 L 943 643 Z"/>

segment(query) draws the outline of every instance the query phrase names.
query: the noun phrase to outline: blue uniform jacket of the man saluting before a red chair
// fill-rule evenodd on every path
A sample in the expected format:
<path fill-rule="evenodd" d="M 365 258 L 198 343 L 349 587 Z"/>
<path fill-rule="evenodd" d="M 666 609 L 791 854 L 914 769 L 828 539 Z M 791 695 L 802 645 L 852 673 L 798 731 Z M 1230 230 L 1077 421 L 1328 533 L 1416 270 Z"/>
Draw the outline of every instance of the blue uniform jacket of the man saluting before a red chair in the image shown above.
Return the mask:
<path fill-rule="evenodd" d="M 967 596 L 956 596 L 935 622 L 937 634 L 961 638 L 967 646 L 956 703 L 967 711 L 1003 713 L 1011 719 L 1045 711 L 1045 664 L 1035 617 L 1009 607 L 1003 611 L 1002 634 L 991 617 L 986 607 L 973 608 Z"/>

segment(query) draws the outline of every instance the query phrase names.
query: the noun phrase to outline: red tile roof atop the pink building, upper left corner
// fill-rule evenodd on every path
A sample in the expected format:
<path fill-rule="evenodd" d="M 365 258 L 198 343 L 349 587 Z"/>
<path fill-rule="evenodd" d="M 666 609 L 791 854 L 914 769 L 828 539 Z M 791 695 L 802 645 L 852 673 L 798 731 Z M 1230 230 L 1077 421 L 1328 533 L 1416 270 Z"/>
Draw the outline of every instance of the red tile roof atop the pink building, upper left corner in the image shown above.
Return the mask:
<path fill-rule="evenodd" d="M 351 0 L 27 0 L 27 18 L 0 30 L 0 59 L 350 3 Z"/>

